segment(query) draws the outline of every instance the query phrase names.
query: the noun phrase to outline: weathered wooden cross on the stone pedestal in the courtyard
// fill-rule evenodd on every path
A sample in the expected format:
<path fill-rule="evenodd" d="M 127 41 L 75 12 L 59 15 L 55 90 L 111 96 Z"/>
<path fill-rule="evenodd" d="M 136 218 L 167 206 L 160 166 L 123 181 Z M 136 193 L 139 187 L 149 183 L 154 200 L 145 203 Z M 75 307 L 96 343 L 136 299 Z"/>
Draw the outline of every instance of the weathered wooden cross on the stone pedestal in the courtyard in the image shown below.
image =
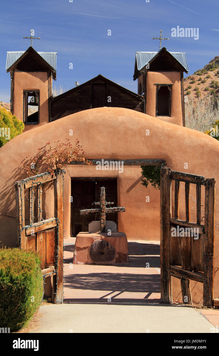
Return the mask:
<path fill-rule="evenodd" d="M 105 232 L 105 228 L 106 228 L 106 214 L 109 213 L 118 213 L 118 212 L 122 212 L 125 211 L 125 207 L 124 206 L 114 206 L 114 207 L 110 207 L 110 208 L 106 208 L 106 205 L 109 204 L 114 204 L 114 203 L 110 203 L 110 201 L 106 201 L 105 199 L 105 187 L 100 188 L 100 201 L 98 201 L 97 203 L 94 202 L 92 203 L 92 205 L 100 205 L 100 208 L 94 208 L 94 209 L 83 209 L 80 210 L 80 214 L 81 215 L 87 215 L 87 214 L 93 214 L 93 213 L 100 213 L 100 227 L 101 227 L 101 232 Z"/>

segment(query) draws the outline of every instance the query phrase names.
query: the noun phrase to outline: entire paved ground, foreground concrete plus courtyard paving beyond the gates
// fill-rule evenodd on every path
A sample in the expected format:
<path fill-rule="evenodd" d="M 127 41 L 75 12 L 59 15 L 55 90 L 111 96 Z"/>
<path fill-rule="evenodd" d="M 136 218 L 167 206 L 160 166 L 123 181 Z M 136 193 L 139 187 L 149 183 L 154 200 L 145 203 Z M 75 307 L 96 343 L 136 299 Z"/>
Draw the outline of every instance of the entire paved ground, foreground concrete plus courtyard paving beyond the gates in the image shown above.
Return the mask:
<path fill-rule="evenodd" d="M 128 266 L 72 265 L 73 242 L 65 240 L 64 304 L 41 306 L 30 333 L 212 333 L 219 325 L 219 310 L 160 304 L 157 241 L 129 241 Z"/>

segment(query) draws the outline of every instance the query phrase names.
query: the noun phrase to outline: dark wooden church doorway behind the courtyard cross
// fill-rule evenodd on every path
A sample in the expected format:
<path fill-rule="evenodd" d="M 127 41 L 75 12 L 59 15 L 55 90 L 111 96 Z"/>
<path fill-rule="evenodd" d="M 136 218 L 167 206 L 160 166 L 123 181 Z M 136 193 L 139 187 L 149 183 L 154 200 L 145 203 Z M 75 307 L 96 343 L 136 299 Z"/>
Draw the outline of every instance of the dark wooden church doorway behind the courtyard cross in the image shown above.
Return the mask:
<path fill-rule="evenodd" d="M 101 187 L 105 187 L 106 200 L 117 206 L 117 179 L 116 178 L 72 178 L 71 179 L 71 234 L 77 236 L 79 232 L 88 232 L 91 221 L 99 220 L 97 214 L 80 215 L 81 209 L 94 208 L 92 203 L 99 201 Z M 117 225 L 117 213 L 110 213 L 107 220 L 112 220 Z"/>

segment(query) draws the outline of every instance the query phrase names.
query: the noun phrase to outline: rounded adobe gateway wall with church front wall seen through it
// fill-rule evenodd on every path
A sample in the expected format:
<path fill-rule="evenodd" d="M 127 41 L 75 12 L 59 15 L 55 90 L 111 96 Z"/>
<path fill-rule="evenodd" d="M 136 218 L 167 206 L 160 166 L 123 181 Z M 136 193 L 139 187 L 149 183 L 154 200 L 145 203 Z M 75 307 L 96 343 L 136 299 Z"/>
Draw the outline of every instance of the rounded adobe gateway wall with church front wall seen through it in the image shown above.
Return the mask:
<path fill-rule="evenodd" d="M 69 136 L 69 130 L 73 136 Z M 149 136 L 146 136 L 149 130 Z M 203 175 L 216 179 L 216 197 L 219 194 L 217 157 L 219 142 L 204 133 L 176 126 L 155 117 L 123 108 L 97 108 L 69 115 L 48 125 L 36 127 L 13 138 L 0 148 L 0 231 L 1 243 L 16 245 L 16 180 L 26 178 L 20 162 L 36 155 L 45 142 L 70 138 L 80 140 L 87 158 L 166 159 L 174 171 Z M 184 169 L 184 163 L 188 169 Z M 103 173 L 102 173 L 103 172 Z M 71 177 L 105 177 L 118 179 L 118 204 L 126 207 L 119 213 L 119 230 L 128 239 L 159 239 L 159 191 L 141 185 L 139 167 L 124 167 L 123 173 L 97 171 L 93 166 L 68 166 L 64 180 L 65 236 L 70 237 L 70 179 Z M 53 214 L 53 191 L 48 183 L 43 196 L 43 217 Z M 146 195 L 150 202 L 146 203 Z M 185 198 L 180 199 L 180 214 L 185 210 Z M 195 209 L 192 211 L 194 218 Z M 27 216 L 26 216 L 27 217 Z M 219 201 L 215 201 L 215 219 L 219 221 Z M 215 298 L 219 297 L 219 234 L 215 234 Z M 195 303 L 202 301 L 202 284 L 191 282 Z M 195 287 L 195 288 L 193 288 Z M 180 294 L 180 283 L 173 279 L 175 299 Z"/>

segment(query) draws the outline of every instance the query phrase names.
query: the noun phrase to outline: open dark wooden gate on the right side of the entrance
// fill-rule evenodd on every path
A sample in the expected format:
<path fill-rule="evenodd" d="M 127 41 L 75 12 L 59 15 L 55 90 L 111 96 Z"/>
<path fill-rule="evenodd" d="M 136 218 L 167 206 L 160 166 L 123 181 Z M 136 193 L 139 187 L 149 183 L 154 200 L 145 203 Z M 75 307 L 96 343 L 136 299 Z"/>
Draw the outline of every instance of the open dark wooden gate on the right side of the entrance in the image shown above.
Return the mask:
<path fill-rule="evenodd" d="M 175 181 L 174 212 L 171 185 Z M 179 219 L 179 187 L 185 182 L 185 216 Z M 183 183 L 184 184 L 184 183 Z M 196 223 L 190 221 L 190 184 L 196 184 Z M 181 184 L 182 185 L 182 184 Z M 201 188 L 205 189 L 204 224 L 201 224 Z M 181 279 L 183 302 L 192 304 L 190 279 L 203 283 L 203 305 L 213 307 L 214 295 L 215 179 L 160 169 L 160 277 L 161 303 L 172 302 L 171 278 Z M 199 229 L 193 236 L 172 236 L 173 227 Z M 188 231 L 188 230 L 187 230 Z M 183 236 L 182 236 L 183 235 Z M 187 298 L 185 298 L 187 297 Z"/>

